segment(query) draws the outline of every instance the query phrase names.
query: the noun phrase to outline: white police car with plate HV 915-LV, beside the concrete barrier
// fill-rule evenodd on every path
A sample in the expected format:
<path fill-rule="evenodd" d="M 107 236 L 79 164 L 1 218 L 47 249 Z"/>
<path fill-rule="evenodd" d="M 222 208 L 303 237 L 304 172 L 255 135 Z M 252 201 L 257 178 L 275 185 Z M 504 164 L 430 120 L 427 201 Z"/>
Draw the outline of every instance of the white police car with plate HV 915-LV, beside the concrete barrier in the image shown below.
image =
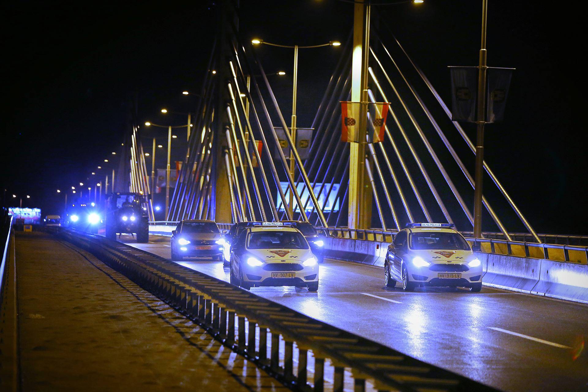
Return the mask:
<path fill-rule="evenodd" d="M 482 289 L 482 263 L 453 223 L 409 223 L 388 246 L 384 282 L 410 292 L 419 286 Z"/>

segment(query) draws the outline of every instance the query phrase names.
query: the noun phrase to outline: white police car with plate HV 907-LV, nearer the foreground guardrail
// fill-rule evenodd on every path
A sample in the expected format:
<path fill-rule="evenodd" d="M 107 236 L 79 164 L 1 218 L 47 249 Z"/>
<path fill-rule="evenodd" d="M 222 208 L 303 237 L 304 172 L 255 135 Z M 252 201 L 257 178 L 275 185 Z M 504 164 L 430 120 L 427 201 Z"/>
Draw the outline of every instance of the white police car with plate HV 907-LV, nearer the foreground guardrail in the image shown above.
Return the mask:
<path fill-rule="evenodd" d="M 230 247 L 230 283 L 319 288 L 319 264 L 308 241 L 289 223 L 251 223 Z"/>

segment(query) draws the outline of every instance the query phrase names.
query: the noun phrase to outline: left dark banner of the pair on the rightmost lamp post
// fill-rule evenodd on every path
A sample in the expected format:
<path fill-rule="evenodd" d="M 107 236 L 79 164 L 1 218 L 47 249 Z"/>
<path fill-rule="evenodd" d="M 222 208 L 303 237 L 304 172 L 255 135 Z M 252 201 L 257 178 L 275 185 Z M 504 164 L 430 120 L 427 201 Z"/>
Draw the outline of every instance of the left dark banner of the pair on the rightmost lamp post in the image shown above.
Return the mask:
<path fill-rule="evenodd" d="M 476 122 L 477 73 L 475 66 L 449 67 L 452 121 Z"/>

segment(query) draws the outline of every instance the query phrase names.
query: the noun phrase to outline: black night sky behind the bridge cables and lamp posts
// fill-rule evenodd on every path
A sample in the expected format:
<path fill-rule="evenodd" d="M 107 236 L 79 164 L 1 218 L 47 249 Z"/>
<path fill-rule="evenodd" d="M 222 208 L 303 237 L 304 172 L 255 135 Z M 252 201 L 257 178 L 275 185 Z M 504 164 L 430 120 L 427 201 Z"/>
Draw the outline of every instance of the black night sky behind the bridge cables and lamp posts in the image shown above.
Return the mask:
<path fill-rule="evenodd" d="M 488 64 L 516 71 L 505 121 L 487 126 L 486 161 L 537 232 L 588 234 L 588 137 L 580 118 L 585 22 L 570 4 L 543 3 L 489 0 Z M 25 205 L 42 207 L 44 215 L 59 212 L 56 189 L 85 182 L 118 151 L 135 97 L 141 122 L 185 122 L 159 109 L 195 108 L 197 98 L 181 92 L 200 89 L 214 7 L 213 1 L 4 2 L 0 183 L 6 195 L 31 195 Z M 243 0 L 240 13 L 246 41 L 313 45 L 345 41 L 353 5 Z M 372 14 L 449 103 L 447 66 L 477 65 L 481 1 L 425 0 L 376 6 Z M 263 46 L 259 54 L 266 72 L 288 73 L 270 82 L 289 118 L 292 52 Z M 332 47 L 300 51 L 299 126 L 310 126 L 337 60 Z"/>

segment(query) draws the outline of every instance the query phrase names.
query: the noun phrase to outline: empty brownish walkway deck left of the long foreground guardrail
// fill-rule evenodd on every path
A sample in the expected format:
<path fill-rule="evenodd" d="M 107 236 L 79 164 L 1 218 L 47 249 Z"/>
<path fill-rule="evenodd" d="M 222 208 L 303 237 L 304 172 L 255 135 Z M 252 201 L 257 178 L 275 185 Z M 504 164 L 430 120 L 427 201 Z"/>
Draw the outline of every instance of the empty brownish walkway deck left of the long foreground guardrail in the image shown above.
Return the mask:
<path fill-rule="evenodd" d="M 21 390 L 286 390 L 91 254 L 16 235 Z"/>

